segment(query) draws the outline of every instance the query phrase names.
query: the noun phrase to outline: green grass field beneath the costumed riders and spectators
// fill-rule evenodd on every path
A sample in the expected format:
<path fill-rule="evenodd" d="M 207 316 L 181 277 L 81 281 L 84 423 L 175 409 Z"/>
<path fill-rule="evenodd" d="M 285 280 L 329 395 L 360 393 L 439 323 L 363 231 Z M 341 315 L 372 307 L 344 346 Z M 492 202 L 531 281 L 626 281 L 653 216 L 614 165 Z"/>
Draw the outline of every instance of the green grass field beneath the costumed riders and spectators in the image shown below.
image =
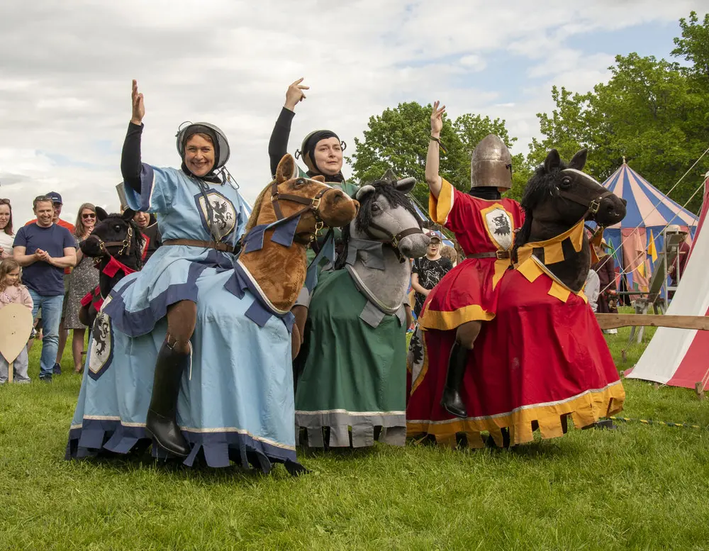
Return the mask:
<path fill-rule="evenodd" d="M 608 335 L 619 369 L 644 345 Z M 646 341 L 652 332 L 646 335 Z M 63 459 L 80 378 L 0 388 L 0 550 L 709 549 L 707 430 L 623 423 L 515 450 L 302 452 L 294 479 Z M 625 350 L 627 360 L 621 360 Z M 709 426 L 687 389 L 625 382 L 623 415 Z"/>

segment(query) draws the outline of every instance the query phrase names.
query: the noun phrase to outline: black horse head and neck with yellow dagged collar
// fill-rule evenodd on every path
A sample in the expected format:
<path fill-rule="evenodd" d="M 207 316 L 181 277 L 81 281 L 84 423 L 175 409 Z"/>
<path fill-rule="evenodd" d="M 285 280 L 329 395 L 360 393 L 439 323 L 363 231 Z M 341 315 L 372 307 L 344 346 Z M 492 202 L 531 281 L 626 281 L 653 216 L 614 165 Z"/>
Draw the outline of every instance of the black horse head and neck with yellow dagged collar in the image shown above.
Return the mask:
<path fill-rule="evenodd" d="M 574 291 L 584 286 L 591 266 L 584 221 L 602 230 L 625 217 L 625 200 L 582 172 L 586 154 L 583 149 L 566 164 L 557 150 L 549 151 L 525 187 L 525 223 L 515 238 L 518 260 L 535 255 Z"/>

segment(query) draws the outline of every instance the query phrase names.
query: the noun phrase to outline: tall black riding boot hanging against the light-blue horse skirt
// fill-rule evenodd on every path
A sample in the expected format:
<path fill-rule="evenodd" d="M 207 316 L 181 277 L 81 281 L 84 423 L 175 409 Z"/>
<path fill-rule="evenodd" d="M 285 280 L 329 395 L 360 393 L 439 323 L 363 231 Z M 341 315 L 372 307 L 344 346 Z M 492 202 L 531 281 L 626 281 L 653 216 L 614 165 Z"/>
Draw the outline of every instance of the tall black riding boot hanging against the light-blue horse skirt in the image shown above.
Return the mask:
<path fill-rule="evenodd" d="M 152 398 L 147 410 L 145 432 L 160 447 L 174 455 L 189 455 L 189 444 L 177 425 L 177 396 L 182 373 L 189 367 L 189 354 L 176 352 L 162 343 L 155 363 Z"/>

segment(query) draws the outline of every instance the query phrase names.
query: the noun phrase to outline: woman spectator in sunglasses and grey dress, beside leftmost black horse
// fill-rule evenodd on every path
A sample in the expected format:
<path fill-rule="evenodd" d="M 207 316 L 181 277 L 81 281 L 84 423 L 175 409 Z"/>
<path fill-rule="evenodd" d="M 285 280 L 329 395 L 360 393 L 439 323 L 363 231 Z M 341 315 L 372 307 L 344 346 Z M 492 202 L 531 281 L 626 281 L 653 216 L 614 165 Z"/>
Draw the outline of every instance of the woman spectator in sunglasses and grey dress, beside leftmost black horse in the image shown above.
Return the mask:
<path fill-rule="evenodd" d="M 79 207 L 77 223 L 74 225 L 74 239 L 77 247 L 91 235 L 96 226 L 96 207 L 91 203 L 84 203 Z M 69 293 L 64 301 L 64 328 L 74 330 L 72 337 L 72 356 L 74 357 L 74 372 L 81 373 L 84 367 L 82 352 L 84 352 L 84 333 L 86 325 L 79 321 L 80 302 L 86 293 L 89 293 L 99 284 L 99 270 L 94 267 L 91 258 L 82 254 L 77 248 L 77 265 L 69 279 Z"/>

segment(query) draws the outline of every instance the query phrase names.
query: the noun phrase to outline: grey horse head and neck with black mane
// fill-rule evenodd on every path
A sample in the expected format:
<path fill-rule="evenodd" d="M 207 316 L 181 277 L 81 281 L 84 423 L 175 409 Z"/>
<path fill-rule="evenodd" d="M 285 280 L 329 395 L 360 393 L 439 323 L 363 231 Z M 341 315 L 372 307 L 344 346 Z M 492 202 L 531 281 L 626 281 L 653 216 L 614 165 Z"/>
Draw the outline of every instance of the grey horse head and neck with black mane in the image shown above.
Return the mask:
<path fill-rule="evenodd" d="M 421 230 L 408 193 L 415 179 L 377 180 L 357 191 L 359 213 L 342 230 L 344 247 L 335 262 L 347 266 L 360 290 L 385 311 L 401 306 L 411 277 L 409 258 L 426 254 L 430 238 Z"/>

